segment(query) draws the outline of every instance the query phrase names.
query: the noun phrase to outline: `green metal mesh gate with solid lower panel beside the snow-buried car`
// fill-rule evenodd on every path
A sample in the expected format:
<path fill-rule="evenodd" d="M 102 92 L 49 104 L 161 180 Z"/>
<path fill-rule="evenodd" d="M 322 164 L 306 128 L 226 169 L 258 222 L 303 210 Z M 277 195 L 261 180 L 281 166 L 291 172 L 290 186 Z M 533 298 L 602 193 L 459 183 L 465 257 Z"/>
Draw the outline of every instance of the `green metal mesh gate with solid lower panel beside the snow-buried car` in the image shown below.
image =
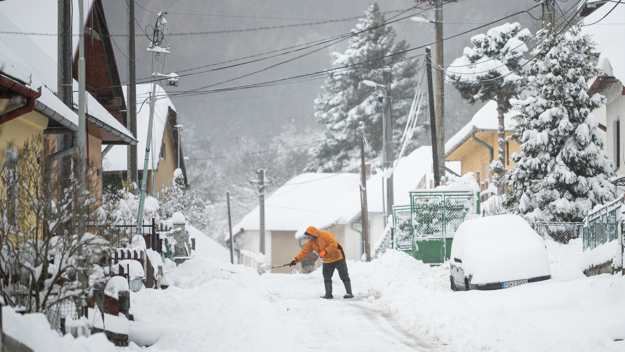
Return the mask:
<path fill-rule="evenodd" d="M 454 233 L 468 215 L 480 214 L 479 192 L 415 190 L 410 192 L 412 256 L 441 263 L 451 256 Z"/>

